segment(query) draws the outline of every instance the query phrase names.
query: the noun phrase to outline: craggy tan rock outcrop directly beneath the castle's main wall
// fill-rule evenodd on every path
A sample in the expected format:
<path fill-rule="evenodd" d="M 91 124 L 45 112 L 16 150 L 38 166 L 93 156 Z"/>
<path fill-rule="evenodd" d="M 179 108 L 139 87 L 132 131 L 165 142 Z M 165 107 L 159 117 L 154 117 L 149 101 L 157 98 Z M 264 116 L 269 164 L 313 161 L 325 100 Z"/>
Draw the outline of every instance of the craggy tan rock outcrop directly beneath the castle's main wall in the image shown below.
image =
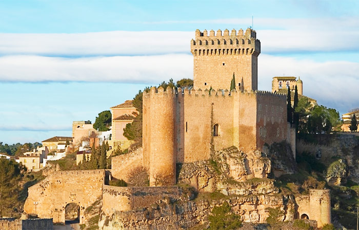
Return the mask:
<path fill-rule="evenodd" d="M 178 183 L 199 192 L 220 191 L 224 195 L 278 193 L 267 179 L 271 161 L 260 151 L 244 153 L 230 147 L 212 154 L 211 160 L 178 166 Z"/>

